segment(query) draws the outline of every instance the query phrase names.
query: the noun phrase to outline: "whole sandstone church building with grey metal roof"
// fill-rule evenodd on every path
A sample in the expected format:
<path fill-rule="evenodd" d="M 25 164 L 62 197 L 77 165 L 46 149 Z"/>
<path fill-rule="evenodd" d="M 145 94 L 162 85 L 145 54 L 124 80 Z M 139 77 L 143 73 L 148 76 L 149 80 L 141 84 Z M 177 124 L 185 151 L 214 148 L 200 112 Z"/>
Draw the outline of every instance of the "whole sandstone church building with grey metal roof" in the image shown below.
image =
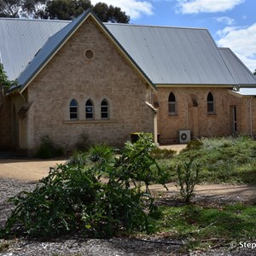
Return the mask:
<path fill-rule="evenodd" d="M 70 149 L 256 136 L 256 79 L 207 29 L 76 20 L 0 19 L 0 61 L 17 85 L 1 88 L 0 149 L 36 152 L 41 138 Z M 159 136 L 158 136 L 159 135 Z"/>

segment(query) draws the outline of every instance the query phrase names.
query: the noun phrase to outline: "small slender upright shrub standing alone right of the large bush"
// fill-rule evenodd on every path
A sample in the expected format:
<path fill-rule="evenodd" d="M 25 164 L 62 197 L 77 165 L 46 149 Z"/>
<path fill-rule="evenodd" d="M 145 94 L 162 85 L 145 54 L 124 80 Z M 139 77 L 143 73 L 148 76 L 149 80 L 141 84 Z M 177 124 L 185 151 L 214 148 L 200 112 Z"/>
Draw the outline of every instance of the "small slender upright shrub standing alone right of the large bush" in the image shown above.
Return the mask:
<path fill-rule="evenodd" d="M 178 165 L 177 171 L 177 187 L 179 188 L 180 195 L 186 203 L 189 203 L 191 198 L 195 195 L 195 184 L 199 182 L 199 172 L 201 166 L 190 159 L 185 161 L 183 165 Z"/>

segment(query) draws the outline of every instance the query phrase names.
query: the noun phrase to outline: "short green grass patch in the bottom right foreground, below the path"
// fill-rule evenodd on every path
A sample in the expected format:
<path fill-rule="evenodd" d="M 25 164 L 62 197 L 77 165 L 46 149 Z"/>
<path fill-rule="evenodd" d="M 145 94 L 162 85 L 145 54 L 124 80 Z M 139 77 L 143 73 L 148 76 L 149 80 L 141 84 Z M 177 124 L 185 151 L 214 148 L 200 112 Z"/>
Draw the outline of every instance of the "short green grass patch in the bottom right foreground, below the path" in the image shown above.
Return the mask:
<path fill-rule="evenodd" d="M 163 217 L 159 232 L 173 239 L 183 239 L 188 248 L 214 247 L 221 241 L 252 241 L 256 238 L 256 207 L 236 204 L 222 207 L 185 205 L 160 207 Z"/>

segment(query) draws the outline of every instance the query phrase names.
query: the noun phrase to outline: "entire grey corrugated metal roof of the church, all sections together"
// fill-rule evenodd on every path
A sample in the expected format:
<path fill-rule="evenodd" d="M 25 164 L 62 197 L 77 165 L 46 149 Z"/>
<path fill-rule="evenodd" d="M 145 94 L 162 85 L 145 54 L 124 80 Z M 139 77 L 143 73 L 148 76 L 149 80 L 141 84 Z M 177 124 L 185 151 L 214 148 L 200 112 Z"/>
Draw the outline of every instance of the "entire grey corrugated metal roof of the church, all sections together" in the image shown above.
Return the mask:
<path fill-rule="evenodd" d="M 0 19 L 0 61 L 9 79 L 18 77 L 24 90 L 88 16 L 152 86 L 255 86 L 247 67 L 230 50 L 218 49 L 207 29 L 103 25 L 91 11 L 72 22 Z"/>

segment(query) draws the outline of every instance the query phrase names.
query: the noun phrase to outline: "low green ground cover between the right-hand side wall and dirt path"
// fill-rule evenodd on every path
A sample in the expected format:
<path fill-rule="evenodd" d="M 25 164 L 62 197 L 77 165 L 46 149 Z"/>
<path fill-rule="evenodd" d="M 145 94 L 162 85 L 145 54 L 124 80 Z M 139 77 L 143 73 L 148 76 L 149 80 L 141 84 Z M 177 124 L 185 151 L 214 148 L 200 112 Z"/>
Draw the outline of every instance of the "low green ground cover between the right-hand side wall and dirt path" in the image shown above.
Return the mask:
<path fill-rule="evenodd" d="M 256 184 L 256 141 L 249 137 L 202 138 L 188 144 L 180 154 L 158 159 L 170 172 L 170 182 L 177 180 L 175 166 L 194 158 L 201 166 L 201 183 Z"/>

